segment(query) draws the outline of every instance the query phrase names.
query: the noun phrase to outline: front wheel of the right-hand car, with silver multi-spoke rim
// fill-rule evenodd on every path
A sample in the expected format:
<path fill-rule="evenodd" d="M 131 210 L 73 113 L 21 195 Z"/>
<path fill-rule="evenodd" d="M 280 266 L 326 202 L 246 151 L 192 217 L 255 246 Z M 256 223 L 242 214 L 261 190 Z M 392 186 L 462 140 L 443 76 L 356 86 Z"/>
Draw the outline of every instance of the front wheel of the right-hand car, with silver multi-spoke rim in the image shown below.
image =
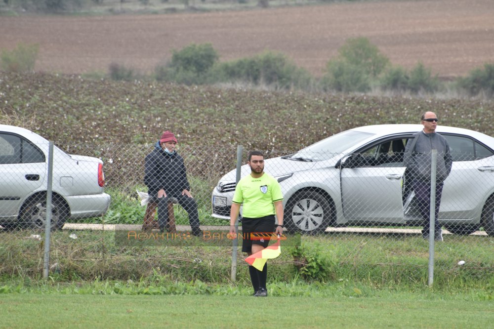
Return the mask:
<path fill-rule="evenodd" d="M 288 201 L 284 223 L 288 232 L 321 233 L 331 224 L 333 214 L 333 207 L 323 195 L 300 191 Z"/>

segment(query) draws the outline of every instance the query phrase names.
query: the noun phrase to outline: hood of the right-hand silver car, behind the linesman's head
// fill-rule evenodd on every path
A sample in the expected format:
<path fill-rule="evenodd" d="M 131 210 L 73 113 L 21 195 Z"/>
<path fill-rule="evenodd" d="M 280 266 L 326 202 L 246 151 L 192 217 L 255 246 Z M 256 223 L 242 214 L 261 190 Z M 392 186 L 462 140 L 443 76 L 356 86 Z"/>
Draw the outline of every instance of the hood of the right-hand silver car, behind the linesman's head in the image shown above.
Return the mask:
<path fill-rule="evenodd" d="M 297 171 L 309 170 L 314 167 L 315 162 L 303 162 L 303 161 L 294 161 L 279 158 L 266 159 L 264 161 L 264 172 L 270 174 L 271 176 L 282 176 L 286 174 L 290 174 Z M 241 177 L 245 177 L 250 174 L 250 167 L 245 164 L 242 166 L 242 170 L 240 173 Z M 231 182 L 235 181 L 237 178 L 237 169 L 233 169 L 232 171 L 225 174 L 221 181 L 223 182 Z"/>

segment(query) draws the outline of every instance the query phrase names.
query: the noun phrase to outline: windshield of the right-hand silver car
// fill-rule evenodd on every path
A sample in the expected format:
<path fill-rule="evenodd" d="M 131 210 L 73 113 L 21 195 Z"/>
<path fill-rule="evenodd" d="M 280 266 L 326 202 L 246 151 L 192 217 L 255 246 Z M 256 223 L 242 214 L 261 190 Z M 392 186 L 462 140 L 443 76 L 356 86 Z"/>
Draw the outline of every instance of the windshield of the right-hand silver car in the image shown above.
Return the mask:
<path fill-rule="evenodd" d="M 294 154 L 284 157 L 284 159 L 305 162 L 328 160 L 372 135 L 374 134 L 369 132 L 346 130 L 307 146 Z"/>

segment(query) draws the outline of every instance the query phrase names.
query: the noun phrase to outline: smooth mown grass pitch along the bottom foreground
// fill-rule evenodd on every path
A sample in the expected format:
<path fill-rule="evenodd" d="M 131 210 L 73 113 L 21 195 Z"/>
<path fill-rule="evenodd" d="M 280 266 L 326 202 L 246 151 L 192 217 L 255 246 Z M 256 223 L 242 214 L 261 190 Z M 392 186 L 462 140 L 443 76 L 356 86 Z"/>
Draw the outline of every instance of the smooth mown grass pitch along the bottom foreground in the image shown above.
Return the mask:
<path fill-rule="evenodd" d="M 494 302 L 372 298 L 8 294 L 2 328 L 492 328 Z"/>

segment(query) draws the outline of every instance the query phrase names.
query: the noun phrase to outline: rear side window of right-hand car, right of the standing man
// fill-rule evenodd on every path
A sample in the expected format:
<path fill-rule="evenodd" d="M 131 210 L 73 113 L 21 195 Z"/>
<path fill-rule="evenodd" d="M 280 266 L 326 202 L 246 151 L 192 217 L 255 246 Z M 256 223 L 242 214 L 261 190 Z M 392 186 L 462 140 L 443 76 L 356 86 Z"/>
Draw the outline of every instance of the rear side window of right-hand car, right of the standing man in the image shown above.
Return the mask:
<path fill-rule="evenodd" d="M 450 145 L 453 161 L 474 161 L 493 156 L 493 152 L 479 142 L 456 135 L 444 135 Z"/>

